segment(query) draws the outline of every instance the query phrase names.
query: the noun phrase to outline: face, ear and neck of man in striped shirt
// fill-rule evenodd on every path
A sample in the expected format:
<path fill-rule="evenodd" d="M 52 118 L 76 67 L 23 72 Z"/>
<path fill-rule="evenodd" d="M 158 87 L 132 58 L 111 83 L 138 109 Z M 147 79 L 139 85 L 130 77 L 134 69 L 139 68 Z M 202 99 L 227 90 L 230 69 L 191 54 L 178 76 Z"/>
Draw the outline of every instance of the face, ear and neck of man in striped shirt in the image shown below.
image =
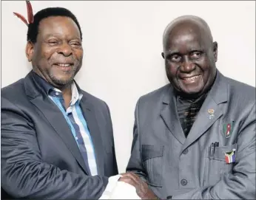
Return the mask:
<path fill-rule="evenodd" d="M 68 108 L 71 84 L 83 60 L 81 35 L 75 22 L 64 16 L 41 20 L 36 43 L 27 42 L 26 55 L 33 71 L 61 90 Z"/>

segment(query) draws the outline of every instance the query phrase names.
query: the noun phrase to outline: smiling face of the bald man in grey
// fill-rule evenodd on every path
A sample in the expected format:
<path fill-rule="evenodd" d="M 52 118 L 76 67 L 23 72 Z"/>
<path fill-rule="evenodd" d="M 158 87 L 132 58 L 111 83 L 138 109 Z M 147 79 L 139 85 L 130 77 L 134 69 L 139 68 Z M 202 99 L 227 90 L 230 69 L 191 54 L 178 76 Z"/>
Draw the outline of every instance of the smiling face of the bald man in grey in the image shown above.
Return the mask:
<path fill-rule="evenodd" d="M 166 75 L 178 92 L 203 94 L 215 80 L 217 43 L 192 21 L 172 27 L 164 46 Z"/>

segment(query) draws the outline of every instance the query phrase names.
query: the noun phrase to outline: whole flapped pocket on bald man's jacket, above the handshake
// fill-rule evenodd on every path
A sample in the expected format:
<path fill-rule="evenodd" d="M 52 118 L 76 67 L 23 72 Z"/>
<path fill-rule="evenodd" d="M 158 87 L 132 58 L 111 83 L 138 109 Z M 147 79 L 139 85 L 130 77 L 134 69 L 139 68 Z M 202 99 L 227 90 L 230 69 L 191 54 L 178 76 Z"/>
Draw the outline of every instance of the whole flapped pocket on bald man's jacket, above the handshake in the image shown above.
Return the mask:
<path fill-rule="evenodd" d="M 149 185 L 162 187 L 164 146 L 142 145 L 141 149 Z"/>

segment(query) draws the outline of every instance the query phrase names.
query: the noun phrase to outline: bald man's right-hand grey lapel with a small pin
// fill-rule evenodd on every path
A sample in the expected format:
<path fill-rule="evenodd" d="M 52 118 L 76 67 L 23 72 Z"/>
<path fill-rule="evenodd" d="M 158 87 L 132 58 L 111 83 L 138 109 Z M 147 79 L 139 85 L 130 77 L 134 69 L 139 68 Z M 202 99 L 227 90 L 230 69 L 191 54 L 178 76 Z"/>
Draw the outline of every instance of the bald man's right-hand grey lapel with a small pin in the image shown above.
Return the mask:
<path fill-rule="evenodd" d="M 205 134 L 208 128 L 215 123 L 218 118 L 223 115 L 223 111 L 220 107 L 220 103 L 226 102 L 228 99 L 228 88 L 226 82 L 223 80 L 223 75 L 217 72 L 217 77 L 212 89 L 204 100 L 203 105 L 198 113 L 195 123 L 192 125 L 189 135 L 183 145 L 183 149 L 186 149 L 192 142 Z M 210 119 L 209 109 L 214 110 L 214 114 Z"/>

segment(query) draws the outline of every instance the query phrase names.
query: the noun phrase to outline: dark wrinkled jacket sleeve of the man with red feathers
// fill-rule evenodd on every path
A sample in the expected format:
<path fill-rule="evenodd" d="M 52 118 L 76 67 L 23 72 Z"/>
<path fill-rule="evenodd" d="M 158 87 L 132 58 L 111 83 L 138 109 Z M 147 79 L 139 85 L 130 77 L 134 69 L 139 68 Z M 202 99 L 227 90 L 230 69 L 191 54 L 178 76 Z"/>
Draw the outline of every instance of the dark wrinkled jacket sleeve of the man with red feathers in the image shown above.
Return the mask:
<path fill-rule="evenodd" d="M 1 187 L 10 196 L 98 199 L 107 182 L 105 176 L 81 176 L 44 162 L 30 118 L 1 97 Z"/>

